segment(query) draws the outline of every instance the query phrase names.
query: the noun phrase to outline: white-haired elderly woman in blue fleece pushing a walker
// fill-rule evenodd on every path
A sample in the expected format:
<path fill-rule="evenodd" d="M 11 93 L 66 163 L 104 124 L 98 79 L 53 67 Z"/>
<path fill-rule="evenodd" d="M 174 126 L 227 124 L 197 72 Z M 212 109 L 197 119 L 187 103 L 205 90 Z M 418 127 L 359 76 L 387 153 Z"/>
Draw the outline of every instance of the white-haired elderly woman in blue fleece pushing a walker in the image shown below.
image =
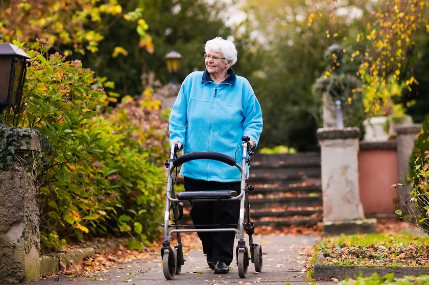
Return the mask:
<path fill-rule="evenodd" d="M 251 138 L 252 149 L 259 141 L 263 126 L 260 105 L 249 82 L 231 69 L 237 61 L 232 42 L 220 37 L 208 40 L 204 58 L 205 71 L 190 73 L 180 88 L 170 116 L 170 142 L 183 146 L 183 153 L 216 151 L 234 158 L 243 136 Z M 180 174 L 185 191 L 241 191 L 240 171 L 222 162 L 189 161 Z M 230 227 L 238 223 L 239 212 L 238 200 L 204 201 L 192 203 L 190 216 L 196 226 Z M 216 274 L 228 273 L 234 232 L 199 232 L 198 236 L 210 269 Z"/>

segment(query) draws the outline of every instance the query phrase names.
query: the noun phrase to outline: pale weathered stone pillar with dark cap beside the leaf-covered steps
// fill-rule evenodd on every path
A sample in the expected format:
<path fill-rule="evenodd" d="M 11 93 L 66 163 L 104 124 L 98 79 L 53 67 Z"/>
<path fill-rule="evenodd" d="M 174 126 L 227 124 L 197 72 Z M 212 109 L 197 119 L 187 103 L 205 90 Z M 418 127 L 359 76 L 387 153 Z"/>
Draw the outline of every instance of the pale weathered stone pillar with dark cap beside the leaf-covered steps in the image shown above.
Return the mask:
<path fill-rule="evenodd" d="M 325 235 L 375 231 L 376 220 L 365 219 L 359 196 L 357 127 L 319 128 L 321 147 L 323 231 Z"/>

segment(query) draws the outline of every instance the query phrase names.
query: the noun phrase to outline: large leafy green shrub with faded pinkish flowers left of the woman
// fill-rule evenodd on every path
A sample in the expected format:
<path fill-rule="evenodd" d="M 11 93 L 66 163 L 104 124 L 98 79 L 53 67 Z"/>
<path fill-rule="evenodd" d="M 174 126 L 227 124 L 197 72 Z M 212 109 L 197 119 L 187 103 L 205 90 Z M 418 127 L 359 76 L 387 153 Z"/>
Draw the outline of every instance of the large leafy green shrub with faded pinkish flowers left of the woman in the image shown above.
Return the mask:
<path fill-rule="evenodd" d="M 39 193 L 44 248 L 58 248 L 56 239 L 84 239 L 84 233 L 129 232 L 142 242 L 157 236 L 165 180 L 159 165 L 168 146 L 160 102 L 148 91 L 110 110 L 113 98 L 91 70 L 48 56 L 49 41 L 37 44 L 40 52 L 27 51 L 33 60 L 25 107 L 15 119 L 51 143 Z"/>

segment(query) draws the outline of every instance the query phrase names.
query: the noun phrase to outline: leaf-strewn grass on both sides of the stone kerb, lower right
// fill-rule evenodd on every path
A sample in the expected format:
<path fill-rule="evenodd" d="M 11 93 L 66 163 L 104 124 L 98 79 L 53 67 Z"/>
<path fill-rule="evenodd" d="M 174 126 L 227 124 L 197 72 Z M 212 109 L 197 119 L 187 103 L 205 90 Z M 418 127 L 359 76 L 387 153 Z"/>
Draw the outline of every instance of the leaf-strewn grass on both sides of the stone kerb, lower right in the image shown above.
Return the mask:
<path fill-rule="evenodd" d="M 320 253 L 325 256 L 323 265 L 429 267 L 429 236 L 383 232 L 324 237 L 314 247 L 314 254 L 307 266 L 307 280 L 314 281 L 313 266 Z M 371 277 L 347 279 L 339 284 L 429 284 L 429 276 L 394 278 L 393 274 L 379 277 L 374 273 Z"/>

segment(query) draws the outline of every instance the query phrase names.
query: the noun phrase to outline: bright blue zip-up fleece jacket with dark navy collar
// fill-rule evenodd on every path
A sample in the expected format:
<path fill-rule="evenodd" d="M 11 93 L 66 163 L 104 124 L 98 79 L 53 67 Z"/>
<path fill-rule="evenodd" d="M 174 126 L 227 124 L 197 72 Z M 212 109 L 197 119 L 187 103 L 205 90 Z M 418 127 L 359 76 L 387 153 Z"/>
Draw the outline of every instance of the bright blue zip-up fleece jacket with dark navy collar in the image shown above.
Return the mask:
<path fill-rule="evenodd" d="M 182 143 L 183 153 L 221 152 L 241 165 L 241 138 L 249 136 L 257 145 L 263 120 L 249 82 L 236 76 L 231 68 L 228 73 L 227 79 L 218 85 L 210 79 L 207 70 L 195 71 L 186 77 L 170 115 L 170 143 Z M 207 181 L 241 180 L 236 167 L 213 160 L 186 162 L 180 174 Z"/>

